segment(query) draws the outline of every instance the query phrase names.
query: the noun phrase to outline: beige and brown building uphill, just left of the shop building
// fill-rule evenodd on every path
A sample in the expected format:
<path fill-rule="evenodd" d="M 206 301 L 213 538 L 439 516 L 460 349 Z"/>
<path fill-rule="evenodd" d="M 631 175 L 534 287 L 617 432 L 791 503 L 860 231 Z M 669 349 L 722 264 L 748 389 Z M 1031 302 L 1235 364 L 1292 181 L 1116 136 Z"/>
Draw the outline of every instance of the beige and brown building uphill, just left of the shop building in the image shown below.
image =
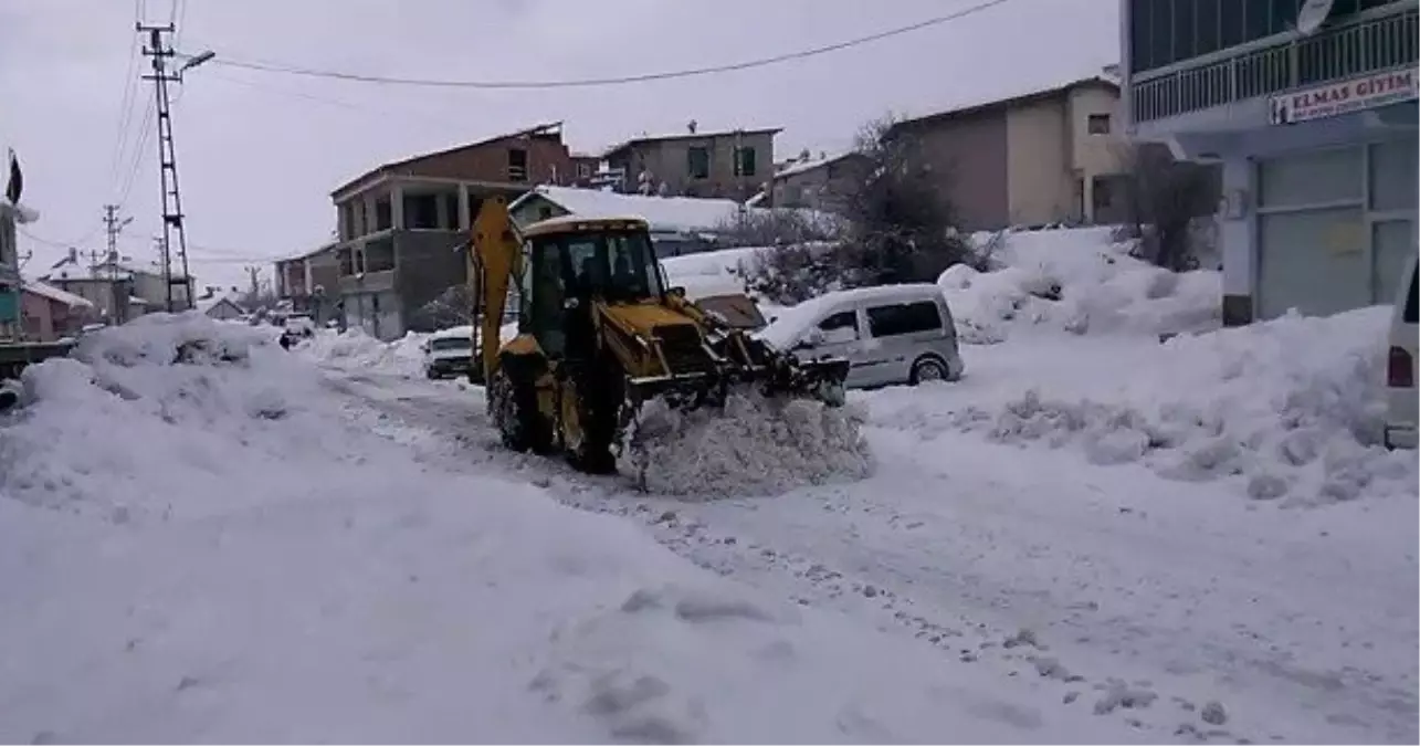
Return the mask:
<path fill-rule="evenodd" d="M 1119 85 L 1106 75 L 896 122 L 941 173 L 961 227 L 1109 223 L 1123 215 Z"/>

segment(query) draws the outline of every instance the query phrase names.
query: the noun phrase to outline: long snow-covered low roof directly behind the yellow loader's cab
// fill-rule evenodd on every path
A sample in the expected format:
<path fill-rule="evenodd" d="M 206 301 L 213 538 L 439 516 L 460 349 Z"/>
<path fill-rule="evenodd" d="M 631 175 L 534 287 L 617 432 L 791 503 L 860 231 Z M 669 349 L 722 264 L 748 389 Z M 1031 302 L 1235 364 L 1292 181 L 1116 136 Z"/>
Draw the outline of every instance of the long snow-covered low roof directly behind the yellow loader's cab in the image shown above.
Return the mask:
<path fill-rule="evenodd" d="M 621 195 L 571 186 L 538 186 L 515 199 L 510 209 L 541 196 L 578 217 L 640 217 L 652 230 L 714 230 L 740 212 L 733 199 L 655 198 Z"/>

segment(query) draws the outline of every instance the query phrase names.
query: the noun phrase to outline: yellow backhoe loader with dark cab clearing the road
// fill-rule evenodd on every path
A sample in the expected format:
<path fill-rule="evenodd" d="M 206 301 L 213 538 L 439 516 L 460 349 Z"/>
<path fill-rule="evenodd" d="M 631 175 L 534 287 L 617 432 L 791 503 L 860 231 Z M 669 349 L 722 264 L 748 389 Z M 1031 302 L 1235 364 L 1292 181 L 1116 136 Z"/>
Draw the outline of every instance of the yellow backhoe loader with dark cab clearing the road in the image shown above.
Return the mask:
<path fill-rule="evenodd" d="M 542 220 L 520 230 L 503 198 L 473 222 L 469 283 L 488 413 L 515 450 L 561 450 L 609 473 L 640 405 L 717 406 L 731 391 L 842 404 L 848 361 L 801 362 L 667 287 L 646 222 Z M 518 333 L 500 340 L 518 283 Z"/>

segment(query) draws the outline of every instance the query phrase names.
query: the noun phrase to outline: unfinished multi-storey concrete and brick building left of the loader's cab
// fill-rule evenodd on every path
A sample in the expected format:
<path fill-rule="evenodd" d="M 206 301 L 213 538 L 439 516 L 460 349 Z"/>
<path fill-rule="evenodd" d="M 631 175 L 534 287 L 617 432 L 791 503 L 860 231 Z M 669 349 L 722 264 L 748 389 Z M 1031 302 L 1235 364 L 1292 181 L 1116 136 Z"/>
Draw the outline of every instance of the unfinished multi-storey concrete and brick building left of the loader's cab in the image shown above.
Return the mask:
<path fill-rule="evenodd" d="M 339 186 L 337 303 L 344 324 L 381 340 L 433 331 L 420 310 L 463 284 L 462 244 L 486 198 L 572 183 L 561 122 L 385 163 Z"/>

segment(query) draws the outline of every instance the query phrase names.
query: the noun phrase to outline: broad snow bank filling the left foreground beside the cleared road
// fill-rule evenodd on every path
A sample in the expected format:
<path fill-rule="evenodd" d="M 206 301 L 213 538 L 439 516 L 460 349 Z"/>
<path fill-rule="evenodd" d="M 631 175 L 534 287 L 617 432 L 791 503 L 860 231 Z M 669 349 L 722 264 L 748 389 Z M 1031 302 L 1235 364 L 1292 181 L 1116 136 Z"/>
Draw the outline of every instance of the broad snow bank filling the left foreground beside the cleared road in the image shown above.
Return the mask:
<path fill-rule="evenodd" d="M 0 421 L 0 743 L 1135 739 L 457 443 L 381 436 L 243 327 L 149 317 L 24 385 Z"/>

